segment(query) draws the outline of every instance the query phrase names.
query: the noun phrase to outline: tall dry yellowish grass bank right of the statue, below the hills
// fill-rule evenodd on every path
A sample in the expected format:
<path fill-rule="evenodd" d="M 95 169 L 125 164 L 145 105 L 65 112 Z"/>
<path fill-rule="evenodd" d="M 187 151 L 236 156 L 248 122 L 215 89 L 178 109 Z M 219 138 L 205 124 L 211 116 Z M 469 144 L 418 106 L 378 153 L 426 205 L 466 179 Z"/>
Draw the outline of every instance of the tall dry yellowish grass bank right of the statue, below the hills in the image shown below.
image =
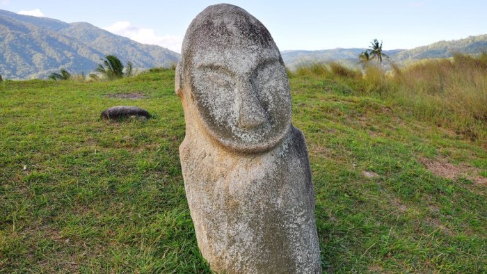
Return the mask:
<path fill-rule="evenodd" d="M 385 99 L 418 120 L 453 129 L 487 143 L 487 54 L 420 61 L 385 73 L 375 66 L 363 71 L 337 63 L 299 67 L 291 76 L 344 81 L 357 95 Z"/>

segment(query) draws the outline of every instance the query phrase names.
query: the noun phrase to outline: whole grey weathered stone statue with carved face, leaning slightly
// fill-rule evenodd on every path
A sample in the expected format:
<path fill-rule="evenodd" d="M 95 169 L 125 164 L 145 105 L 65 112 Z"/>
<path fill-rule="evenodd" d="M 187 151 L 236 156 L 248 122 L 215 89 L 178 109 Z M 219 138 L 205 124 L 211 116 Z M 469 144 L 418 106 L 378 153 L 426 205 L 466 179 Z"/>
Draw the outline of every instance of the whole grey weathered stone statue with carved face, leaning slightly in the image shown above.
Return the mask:
<path fill-rule="evenodd" d="M 175 90 L 186 198 L 211 269 L 321 273 L 308 151 L 269 31 L 237 6 L 209 6 L 186 31 Z"/>

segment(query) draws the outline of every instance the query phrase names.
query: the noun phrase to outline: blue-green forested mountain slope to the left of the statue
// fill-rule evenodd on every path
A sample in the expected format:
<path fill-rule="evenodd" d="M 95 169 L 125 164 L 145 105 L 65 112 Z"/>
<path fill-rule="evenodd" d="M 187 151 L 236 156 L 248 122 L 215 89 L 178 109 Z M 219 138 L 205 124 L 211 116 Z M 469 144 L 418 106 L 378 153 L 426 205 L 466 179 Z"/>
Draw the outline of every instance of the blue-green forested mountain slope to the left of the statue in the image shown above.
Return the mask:
<path fill-rule="evenodd" d="M 107 54 L 149 68 L 169 66 L 179 54 L 143 45 L 88 23 L 18 15 L 0 10 L 0 74 L 4 79 L 43 78 L 61 68 L 92 72 Z"/>

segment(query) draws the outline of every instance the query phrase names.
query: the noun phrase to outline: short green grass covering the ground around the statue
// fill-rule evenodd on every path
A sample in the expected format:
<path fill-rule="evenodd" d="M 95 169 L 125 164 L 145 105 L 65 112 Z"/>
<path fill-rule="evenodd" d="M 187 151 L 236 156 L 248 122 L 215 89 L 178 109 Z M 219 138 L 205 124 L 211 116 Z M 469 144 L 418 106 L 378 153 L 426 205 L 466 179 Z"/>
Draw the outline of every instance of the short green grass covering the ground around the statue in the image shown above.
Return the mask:
<path fill-rule="evenodd" d="M 487 271 L 482 142 L 347 81 L 294 76 L 291 85 L 325 271 Z M 0 83 L 0 272 L 210 272 L 184 196 L 184 116 L 173 87 L 172 70 Z M 106 97 L 125 92 L 146 98 Z M 154 117 L 99 119 L 119 104 Z M 426 161 L 471 173 L 447 179 Z"/>

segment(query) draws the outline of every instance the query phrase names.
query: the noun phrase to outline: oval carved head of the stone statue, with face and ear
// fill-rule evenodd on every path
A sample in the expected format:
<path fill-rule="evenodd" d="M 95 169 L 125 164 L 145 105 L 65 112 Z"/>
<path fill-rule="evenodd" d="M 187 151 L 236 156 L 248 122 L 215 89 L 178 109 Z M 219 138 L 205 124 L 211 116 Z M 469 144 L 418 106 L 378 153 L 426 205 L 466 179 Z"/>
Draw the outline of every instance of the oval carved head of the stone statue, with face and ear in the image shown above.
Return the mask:
<path fill-rule="evenodd" d="M 195 109 L 194 122 L 230 150 L 269 150 L 291 126 L 289 81 L 279 49 L 265 26 L 237 6 L 209 6 L 193 19 L 175 89 Z"/>

